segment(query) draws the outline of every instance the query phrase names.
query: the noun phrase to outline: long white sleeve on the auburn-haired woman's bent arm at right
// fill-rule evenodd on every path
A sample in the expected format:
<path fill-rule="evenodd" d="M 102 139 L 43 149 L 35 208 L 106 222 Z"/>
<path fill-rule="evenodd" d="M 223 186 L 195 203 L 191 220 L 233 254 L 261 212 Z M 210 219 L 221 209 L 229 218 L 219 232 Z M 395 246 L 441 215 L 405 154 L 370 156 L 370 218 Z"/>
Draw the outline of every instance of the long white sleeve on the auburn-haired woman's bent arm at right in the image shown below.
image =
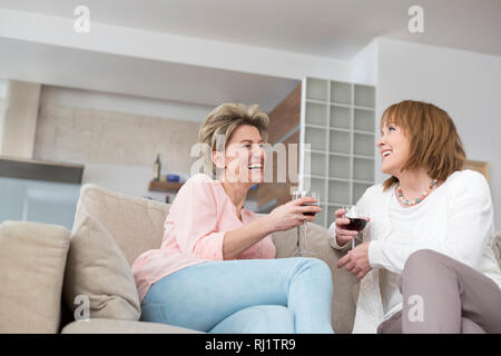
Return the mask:
<path fill-rule="evenodd" d="M 401 274 L 406 259 L 420 249 L 432 249 L 473 268 L 480 265 L 485 245 L 493 231 L 493 207 L 489 185 L 483 176 L 471 172 L 454 188 L 449 204 L 445 236 L 418 239 L 420 243 L 374 240 L 369 245 L 369 260 L 373 268 Z M 395 231 L 394 234 L 397 234 Z"/>

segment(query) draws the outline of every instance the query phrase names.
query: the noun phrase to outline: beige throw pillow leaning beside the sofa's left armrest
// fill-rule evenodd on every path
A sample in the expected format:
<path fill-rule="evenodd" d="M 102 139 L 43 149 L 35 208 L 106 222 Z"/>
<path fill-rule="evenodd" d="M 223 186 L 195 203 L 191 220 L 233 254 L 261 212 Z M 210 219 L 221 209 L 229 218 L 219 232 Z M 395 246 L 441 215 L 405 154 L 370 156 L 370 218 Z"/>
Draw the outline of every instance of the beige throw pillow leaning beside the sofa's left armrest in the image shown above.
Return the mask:
<path fill-rule="evenodd" d="M 72 313 L 77 308 L 80 313 L 88 300 L 90 318 L 138 320 L 140 316 L 128 261 L 107 229 L 82 211 L 71 234 L 63 298 Z"/>

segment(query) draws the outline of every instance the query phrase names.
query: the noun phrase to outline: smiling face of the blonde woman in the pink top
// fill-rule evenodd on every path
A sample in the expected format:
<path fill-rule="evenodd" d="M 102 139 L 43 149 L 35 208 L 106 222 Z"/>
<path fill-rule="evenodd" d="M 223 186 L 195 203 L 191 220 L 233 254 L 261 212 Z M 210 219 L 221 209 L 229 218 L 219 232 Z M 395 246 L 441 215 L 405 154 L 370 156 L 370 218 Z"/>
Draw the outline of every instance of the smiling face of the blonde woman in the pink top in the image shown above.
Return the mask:
<path fill-rule="evenodd" d="M 225 167 L 225 180 L 229 182 L 249 182 L 250 186 L 263 181 L 265 167 L 264 140 L 259 130 L 250 125 L 242 125 L 233 131 L 224 157 L 218 166 Z M 215 152 L 216 154 L 216 152 Z"/>

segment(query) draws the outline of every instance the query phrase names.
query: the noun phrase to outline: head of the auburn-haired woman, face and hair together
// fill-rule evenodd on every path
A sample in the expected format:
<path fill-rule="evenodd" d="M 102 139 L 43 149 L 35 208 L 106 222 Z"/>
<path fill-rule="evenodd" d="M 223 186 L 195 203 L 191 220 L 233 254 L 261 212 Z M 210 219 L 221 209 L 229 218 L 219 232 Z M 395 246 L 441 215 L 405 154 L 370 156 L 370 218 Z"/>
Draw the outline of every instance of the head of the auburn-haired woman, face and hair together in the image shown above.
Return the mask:
<path fill-rule="evenodd" d="M 426 170 L 429 178 L 445 180 L 463 167 L 461 139 L 449 113 L 433 103 L 403 100 L 381 117 L 382 171 L 391 175 L 384 190 L 400 180 L 403 170 Z M 387 151 L 387 152 L 386 152 Z"/>

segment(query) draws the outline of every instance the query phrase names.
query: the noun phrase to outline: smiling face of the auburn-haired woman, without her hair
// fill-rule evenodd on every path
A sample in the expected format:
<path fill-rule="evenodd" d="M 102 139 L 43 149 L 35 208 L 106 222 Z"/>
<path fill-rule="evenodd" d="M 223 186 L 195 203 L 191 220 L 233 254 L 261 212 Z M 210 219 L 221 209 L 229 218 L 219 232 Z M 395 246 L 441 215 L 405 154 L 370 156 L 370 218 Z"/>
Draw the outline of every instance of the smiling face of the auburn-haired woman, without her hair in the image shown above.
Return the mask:
<path fill-rule="evenodd" d="M 410 140 L 402 128 L 393 122 L 383 123 L 377 141 L 381 154 L 381 171 L 397 177 L 409 160 Z"/>

